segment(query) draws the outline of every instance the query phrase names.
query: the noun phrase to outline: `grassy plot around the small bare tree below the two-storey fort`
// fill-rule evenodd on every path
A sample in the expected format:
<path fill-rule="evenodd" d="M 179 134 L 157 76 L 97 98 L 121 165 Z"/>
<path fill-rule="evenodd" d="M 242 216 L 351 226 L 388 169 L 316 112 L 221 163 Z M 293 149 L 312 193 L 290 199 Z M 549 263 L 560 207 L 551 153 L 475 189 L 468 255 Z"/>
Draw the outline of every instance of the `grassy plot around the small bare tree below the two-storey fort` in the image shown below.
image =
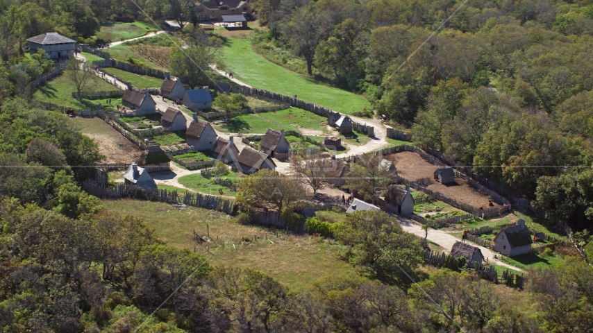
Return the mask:
<path fill-rule="evenodd" d="M 92 76 L 92 90 L 115 90 L 114 86 L 110 85 L 98 76 Z M 83 103 L 77 101 L 72 97 L 72 92 L 76 92 L 76 87 L 68 81 L 66 76 L 60 75 L 48 81 L 42 87 L 39 87 L 33 94 L 33 99 L 37 101 L 52 103 L 67 108 L 85 109 L 87 108 Z"/>

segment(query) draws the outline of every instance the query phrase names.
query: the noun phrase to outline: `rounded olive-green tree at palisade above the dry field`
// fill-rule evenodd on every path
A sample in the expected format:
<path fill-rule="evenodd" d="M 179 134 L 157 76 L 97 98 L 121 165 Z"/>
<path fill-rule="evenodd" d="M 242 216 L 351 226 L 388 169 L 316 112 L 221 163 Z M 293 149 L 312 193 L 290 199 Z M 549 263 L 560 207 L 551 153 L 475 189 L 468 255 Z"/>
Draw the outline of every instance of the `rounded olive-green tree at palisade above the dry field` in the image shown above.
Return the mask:
<path fill-rule="evenodd" d="M 305 197 L 306 189 L 299 180 L 267 169 L 247 176 L 237 189 L 237 203 L 248 207 L 272 205 L 278 212 Z"/>

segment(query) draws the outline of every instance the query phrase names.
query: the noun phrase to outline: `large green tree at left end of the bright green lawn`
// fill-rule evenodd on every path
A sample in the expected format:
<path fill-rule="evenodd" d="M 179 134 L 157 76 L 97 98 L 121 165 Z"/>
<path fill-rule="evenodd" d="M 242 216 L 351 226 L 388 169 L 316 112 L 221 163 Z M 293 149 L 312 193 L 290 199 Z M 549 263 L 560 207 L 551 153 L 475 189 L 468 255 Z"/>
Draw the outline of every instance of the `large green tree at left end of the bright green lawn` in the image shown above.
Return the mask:
<path fill-rule="evenodd" d="M 199 34 L 188 37 L 184 42 L 187 48 L 183 50 L 177 46 L 171 48 L 169 59 L 171 75 L 178 77 L 190 89 L 207 85 L 210 78 L 205 71 L 209 64 L 214 62 L 221 41 L 216 37 Z"/>

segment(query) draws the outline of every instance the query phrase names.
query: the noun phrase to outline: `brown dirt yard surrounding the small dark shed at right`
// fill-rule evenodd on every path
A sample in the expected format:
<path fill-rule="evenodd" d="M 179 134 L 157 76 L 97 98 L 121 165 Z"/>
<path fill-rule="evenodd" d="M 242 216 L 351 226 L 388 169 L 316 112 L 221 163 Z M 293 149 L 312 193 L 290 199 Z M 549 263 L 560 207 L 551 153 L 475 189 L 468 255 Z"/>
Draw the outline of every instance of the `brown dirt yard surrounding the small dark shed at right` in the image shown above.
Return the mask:
<path fill-rule="evenodd" d="M 407 180 L 417 180 L 419 178 L 430 178 L 431 185 L 428 189 L 440 192 L 449 198 L 453 198 L 467 205 L 474 207 L 483 206 L 484 209 L 488 207 L 488 199 L 492 197 L 487 196 L 474 187 L 471 187 L 465 180 L 455 178 L 455 184 L 441 184 L 435 182 L 434 172 L 438 167 L 431 162 L 424 160 L 417 153 L 411 151 L 403 151 L 391 155 L 385 155 L 385 159 L 393 161 L 397 168 L 397 174 Z M 493 201 L 494 203 L 494 201 Z M 494 207 L 499 207 L 494 203 Z"/>

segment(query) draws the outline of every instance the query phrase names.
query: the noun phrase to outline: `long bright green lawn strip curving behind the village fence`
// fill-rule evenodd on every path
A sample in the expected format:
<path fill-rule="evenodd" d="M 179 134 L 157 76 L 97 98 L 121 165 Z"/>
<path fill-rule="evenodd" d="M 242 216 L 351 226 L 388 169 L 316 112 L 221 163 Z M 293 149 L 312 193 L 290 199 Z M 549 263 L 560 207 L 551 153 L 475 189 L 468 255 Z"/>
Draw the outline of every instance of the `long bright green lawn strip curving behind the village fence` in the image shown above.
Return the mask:
<path fill-rule="evenodd" d="M 298 99 L 346 114 L 371 108 L 362 96 L 331 87 L 269 62 L 253 51 L 249 40 L 226 40 L 222 48 L 222 60 L 235 78 L 253 87 L 286 96 L 296 94 Z"/>

